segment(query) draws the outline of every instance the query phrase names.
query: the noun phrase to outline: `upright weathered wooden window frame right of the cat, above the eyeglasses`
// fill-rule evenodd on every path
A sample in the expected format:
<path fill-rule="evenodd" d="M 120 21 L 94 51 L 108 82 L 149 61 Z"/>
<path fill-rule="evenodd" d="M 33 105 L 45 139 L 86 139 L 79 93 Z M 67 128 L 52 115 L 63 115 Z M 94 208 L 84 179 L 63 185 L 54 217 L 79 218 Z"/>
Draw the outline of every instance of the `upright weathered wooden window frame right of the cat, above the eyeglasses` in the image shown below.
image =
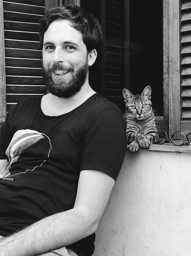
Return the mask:
<path fill-rule="evenodd" d="M 157 130 L 181 129 L 180 1 L 163 0 L 163 116 L 155 117 Z"/>

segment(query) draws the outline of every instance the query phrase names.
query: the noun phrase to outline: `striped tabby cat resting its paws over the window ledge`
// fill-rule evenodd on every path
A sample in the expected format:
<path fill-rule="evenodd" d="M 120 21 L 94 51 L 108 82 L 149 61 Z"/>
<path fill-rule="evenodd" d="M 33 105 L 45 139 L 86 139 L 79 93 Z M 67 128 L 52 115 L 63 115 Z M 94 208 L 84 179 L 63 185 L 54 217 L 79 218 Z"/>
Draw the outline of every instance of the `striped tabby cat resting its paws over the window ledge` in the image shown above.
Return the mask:
<path fill-rule="evenodd" d="M 126 103 L 124 118 L 129 151 L 135 153 L 139 148 L 148 149 L 157 133 L 150 101 L 151 87 L 145 87 L 142 94 L 134 96 L 127 89 L 123 89 L 123 97 Z"/>

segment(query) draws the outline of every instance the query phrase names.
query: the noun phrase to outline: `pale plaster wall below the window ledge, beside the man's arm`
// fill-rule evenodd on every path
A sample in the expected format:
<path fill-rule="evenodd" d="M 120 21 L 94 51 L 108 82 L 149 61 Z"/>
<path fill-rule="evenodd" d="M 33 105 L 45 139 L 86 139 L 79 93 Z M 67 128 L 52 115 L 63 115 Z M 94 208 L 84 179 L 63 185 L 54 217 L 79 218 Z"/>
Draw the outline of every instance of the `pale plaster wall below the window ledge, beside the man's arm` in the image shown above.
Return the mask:
<path fill-rule="evenodd" d="M 191 256 L 191 154 L 127 152 L 93 256 Z"/>

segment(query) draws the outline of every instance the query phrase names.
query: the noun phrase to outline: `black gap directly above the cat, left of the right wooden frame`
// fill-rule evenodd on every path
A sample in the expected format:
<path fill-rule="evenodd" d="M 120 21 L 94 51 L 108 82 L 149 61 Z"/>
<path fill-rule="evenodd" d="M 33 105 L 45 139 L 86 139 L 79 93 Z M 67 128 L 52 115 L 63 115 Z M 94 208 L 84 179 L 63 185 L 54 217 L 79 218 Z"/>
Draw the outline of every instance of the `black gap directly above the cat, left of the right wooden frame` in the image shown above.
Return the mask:
<path fill-rule="evenodd" d="M 163 116 L 162 1 L 130 0 L 130 43 L 132 48 L 133 44 L 142 48 L 130 63 L 130 91 L 141 94 L 149 85 L 152 108 L 157 109 L 158 116 Z"/>

